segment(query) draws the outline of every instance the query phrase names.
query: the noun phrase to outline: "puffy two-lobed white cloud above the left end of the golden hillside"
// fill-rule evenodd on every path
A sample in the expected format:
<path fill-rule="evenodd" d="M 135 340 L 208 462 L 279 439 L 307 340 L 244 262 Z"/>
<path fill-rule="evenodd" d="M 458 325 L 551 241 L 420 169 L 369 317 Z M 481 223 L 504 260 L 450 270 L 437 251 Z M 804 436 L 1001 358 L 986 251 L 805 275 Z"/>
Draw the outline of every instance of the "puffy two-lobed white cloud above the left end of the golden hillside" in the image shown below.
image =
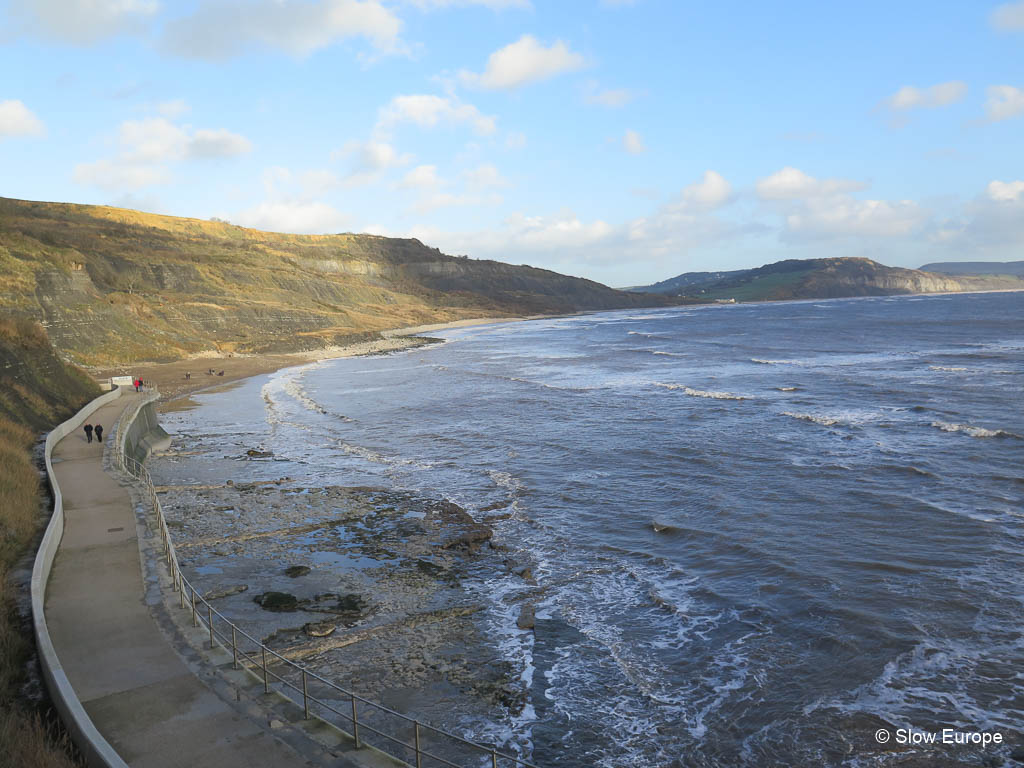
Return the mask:
<path fill-rule="evenodd" d="M 118 129 L 113 158 L 80 163 L 73 178 L 111 189 L 137 189 L 171 180 L 170 166 L 186 160 L 216 160 L 252 151 L 245 136 L 220 130 L 193 131 L 166 118 L 126 120 Z"/>

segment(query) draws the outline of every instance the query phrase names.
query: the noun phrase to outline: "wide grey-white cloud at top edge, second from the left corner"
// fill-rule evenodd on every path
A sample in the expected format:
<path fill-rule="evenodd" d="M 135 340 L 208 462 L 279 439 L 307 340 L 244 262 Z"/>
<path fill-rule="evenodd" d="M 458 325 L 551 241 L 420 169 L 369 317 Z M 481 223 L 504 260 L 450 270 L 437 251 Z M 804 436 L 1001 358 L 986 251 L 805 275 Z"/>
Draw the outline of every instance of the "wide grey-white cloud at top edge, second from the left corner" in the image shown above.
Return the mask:
<path fill-rule="evenodd" d="M 164 29 L 164 46 L 191 58 L 217 59 L 267 47 L 306 56 L 349 38 L 384 53 L 402 50 L 401 20 L 379 0 L 206 0 Z"/>

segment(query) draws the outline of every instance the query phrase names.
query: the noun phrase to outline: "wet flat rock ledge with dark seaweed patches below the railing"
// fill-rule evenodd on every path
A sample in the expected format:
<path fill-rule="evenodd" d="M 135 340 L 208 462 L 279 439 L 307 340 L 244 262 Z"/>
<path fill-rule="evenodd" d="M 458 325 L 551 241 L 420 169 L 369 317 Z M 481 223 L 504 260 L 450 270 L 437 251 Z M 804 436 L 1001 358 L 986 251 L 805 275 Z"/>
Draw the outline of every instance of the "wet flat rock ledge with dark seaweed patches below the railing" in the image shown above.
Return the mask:
<path fill-rule="evenodd" d="M 458 505 L 288 477 L 158 493 L 186 573 L 283 655 L 447 728 L 522 711 L 522 671 L 488 642 L 466 585 L 530 572 Z M 531 629 L 528 609 L 520 622 Z"/>

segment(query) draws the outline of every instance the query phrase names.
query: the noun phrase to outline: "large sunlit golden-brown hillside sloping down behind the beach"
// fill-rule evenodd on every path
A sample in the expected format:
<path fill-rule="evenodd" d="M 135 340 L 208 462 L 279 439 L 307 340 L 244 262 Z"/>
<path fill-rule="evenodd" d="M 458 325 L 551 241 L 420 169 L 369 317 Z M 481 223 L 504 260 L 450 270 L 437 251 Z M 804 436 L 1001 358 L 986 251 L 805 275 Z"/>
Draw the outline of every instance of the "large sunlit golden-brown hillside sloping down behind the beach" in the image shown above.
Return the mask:
<path fill-rule="evenodd" d="M 84 365 L 291 352 L 404 326 L 672 302 L 418 240 L 0 198 L 0 311 L 42 323 Z"/>

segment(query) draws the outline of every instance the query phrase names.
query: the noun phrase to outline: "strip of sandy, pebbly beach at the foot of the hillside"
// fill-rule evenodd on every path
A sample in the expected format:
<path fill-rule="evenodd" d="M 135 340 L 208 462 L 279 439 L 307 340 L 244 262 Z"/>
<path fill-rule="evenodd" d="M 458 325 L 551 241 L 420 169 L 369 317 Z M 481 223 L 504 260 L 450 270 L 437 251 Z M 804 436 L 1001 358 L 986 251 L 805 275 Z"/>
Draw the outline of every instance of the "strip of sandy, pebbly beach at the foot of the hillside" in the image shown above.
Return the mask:
<path fill-rule="evenodd" d="M 106 379 L 111 376 L 140 376 L 147 384 L 156 384 L 160 389 L 161 399 L 158 409 L 162 406 L 195 394 L 206 389 L 218 387 L 253 376 L 271 374 L 282 369 L 293 366 L 302 366 L 308 362 L 319 362 L 321 360 L 337 359 L 339 357 L 357 357 L 360 355 L 385 354 L 404 349 L 414 349 L 433 343 L 429 339 L 419 336 L 419 334 L 431 331 L 444 331 L 455 328 L 469 328 L 473 326 L 488 326 L 499 323 L 521 323 L 530 319 L 543 319 L 545 317 L 562 316 L 549 314 L 536 314 L 512 317 L 472 317 L 449 323 L 435 323 L 422 326 L 409 326 L 406 328 L 389 329 L 381 331 L 381 338 L 371 341 L 360 341 L 354 344 L 343 346 L 330 346 L 322 349 L 313 349 L 304 352 L 288 352 L 281 354 L 232 354 L 214 355 L 210 353 L 200 353 L 190 357 L 173 360 L 171 362 L 140 362 L 134 366 L 119 366 L 117 368 L 94 369 L 90 373 L 94 379 Z M 207 373 L 210 369 L 223 371 L 223 376 L 216 376 Z M 191 378 L 185 379 L 185 373 L 191 374 Z"/>

